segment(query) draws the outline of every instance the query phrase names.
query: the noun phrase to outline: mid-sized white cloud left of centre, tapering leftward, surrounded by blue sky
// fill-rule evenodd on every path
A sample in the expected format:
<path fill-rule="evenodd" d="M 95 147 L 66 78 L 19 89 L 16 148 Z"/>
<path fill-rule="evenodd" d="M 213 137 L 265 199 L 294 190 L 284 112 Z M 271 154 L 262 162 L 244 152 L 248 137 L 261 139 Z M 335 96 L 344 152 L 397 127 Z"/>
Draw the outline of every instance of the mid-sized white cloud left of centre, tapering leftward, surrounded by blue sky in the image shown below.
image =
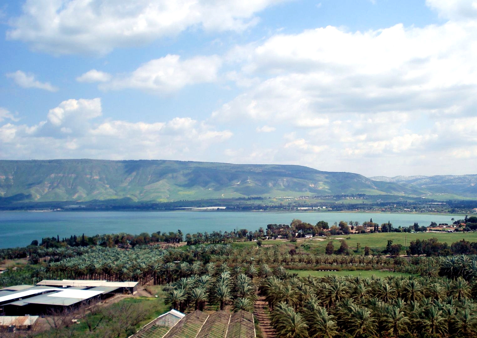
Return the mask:
<path fill-rule="evenodd" d="M 220 66 L 221 60 L 216 55 L 196 56 L 184 61 L 180 60 L 179 55 L 166 55 L 146 62 L 124 77 L 114 77 L 111 82 L 101 84 L 100 88 L 135 88 L 168 94 L 187 85 L 216 81 Z"/>

